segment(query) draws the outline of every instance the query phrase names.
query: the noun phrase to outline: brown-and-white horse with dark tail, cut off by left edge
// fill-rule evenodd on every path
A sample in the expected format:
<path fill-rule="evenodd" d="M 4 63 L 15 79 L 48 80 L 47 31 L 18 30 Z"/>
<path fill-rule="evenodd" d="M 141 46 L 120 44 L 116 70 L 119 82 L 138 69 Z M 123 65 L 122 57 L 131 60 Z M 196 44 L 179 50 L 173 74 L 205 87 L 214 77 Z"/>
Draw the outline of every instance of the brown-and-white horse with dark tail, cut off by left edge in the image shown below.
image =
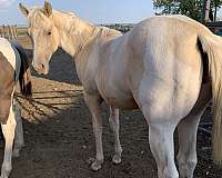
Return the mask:
<path fill-rule="evenodd" d="M 31 95 L 30 77 L 28 58 L 22 47 L 0 38 L 0 121 L 6 140 L 0 178 L 8 178 L 12 169 L 13 140 L 13 156 L 18 157 L 23 146 L 20 108 L 13 100 L 13 93 L 19 81 L 21 93 L 29 97 Z"/>

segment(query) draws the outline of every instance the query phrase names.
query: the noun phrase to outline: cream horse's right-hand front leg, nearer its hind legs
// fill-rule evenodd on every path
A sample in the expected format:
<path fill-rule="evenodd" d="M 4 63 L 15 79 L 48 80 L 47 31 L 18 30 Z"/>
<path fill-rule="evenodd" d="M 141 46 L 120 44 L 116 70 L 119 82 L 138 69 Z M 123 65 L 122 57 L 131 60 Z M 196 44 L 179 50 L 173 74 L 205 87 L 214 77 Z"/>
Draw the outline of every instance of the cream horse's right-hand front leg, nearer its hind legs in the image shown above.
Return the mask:
<path fill-rule="evenodd" d="M 119 131 L 120 131 L 119 109 L 110 107 L 109 122 L 114 135 L 114 156 L 112 158 L 112 161 L 114 164 L 120 164 L 122 147 L 120 145 L 120 137 L 119 137 Z"/>

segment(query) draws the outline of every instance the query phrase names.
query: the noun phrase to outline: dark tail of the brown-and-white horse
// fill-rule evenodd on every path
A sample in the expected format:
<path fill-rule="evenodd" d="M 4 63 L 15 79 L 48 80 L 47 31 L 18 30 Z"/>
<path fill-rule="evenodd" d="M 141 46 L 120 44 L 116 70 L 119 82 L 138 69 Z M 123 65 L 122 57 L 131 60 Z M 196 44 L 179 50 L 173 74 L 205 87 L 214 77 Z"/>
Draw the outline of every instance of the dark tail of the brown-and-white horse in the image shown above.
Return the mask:
<path fill-rule="evenodd" d="M 17 42 L 13 42 L 14 48 L 18 50 L 21 58 L 21 68 L 19 72 L 19 85 L 21 93 L 26 97 L 31 97 L 32 95 L 32 83 L 31 83 L 31 72 L 29 58 L 24 52 L 24 49 Z"/>

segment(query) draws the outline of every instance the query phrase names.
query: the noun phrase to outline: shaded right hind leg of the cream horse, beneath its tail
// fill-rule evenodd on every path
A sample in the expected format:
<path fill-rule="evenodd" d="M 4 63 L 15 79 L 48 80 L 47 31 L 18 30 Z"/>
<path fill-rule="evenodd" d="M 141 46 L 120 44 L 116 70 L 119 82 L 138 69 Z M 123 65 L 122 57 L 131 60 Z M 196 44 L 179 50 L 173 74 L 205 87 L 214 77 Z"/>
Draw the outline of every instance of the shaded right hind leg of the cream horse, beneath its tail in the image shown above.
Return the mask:
<path fill-rule="evenodd" d="M 181 178 L 192 178 L 196 158 L 196 132 L 200 118 L 211 99 L 211 86 L 202 85 L 199 99 L 190 115 L 178 125 L 179 154 L 178 162 Z"/>

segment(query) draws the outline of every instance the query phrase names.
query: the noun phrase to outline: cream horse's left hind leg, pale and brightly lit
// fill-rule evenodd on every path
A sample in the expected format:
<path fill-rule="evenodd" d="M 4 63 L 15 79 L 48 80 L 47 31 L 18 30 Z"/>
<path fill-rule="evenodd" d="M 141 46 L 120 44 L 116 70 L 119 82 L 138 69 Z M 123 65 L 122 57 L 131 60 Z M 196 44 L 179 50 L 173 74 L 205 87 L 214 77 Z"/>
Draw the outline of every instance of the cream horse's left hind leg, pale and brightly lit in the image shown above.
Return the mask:
<path fill-rule="evenodd" d="M 140 105 L 143 116 L 149 123 L 149 144 L 158 166 L 159 178 L 179 178 L 174 164 L 173 134 L 179 119 L 169 117 L 161 102 Z"/>

